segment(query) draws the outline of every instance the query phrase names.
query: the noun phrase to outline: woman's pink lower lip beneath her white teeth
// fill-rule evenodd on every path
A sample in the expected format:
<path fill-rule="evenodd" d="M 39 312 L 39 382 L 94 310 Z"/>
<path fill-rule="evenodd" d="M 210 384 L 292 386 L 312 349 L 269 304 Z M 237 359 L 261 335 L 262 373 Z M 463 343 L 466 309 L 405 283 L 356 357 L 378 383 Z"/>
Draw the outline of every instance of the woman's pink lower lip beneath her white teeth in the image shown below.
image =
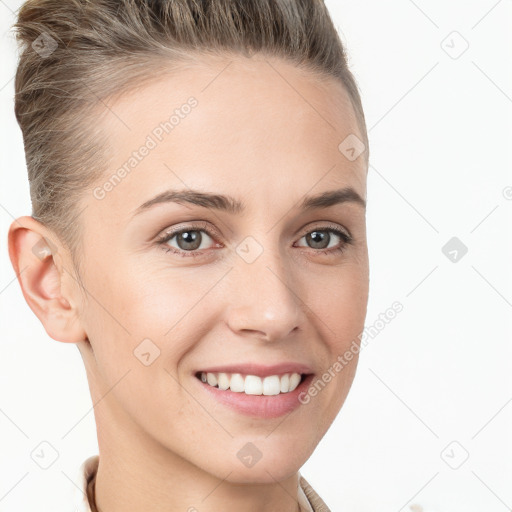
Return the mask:
<path fill-rule="evenodd" d="M 195 376 L 194 379 L 213 398 L 242 414 L 258 418 L 278 418 L 283 414 L 291 413 L 299 405 L 302 405 L 299 401 L 299 395 L 307 391 L 313 377 L 313 374 L 306 375 L 293 391 L 279 393 L 278 395 L 246 395 L 245 393 L 236 393 L 229 389 L 222 390 L 210 386 Z"/>

